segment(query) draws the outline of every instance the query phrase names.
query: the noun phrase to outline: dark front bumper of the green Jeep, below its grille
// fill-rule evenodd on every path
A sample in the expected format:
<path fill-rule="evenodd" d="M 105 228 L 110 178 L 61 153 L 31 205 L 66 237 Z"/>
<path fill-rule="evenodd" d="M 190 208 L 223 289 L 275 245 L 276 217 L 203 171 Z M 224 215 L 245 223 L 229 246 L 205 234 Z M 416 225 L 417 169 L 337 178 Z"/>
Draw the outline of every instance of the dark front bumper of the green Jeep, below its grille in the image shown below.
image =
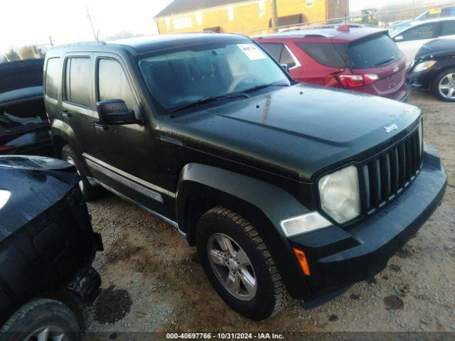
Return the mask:
<path fill-rule="evenodd" d="M 446 171 L 437 150 L 427 147 L 414 183 L 377 214 L 353 227 L 327 227 L 291 237 L 291 247 L 305 252 L 312 300 L 378 274 L 439 206 Z M 303 276 L 303 275 L 302 275 Z"/>

